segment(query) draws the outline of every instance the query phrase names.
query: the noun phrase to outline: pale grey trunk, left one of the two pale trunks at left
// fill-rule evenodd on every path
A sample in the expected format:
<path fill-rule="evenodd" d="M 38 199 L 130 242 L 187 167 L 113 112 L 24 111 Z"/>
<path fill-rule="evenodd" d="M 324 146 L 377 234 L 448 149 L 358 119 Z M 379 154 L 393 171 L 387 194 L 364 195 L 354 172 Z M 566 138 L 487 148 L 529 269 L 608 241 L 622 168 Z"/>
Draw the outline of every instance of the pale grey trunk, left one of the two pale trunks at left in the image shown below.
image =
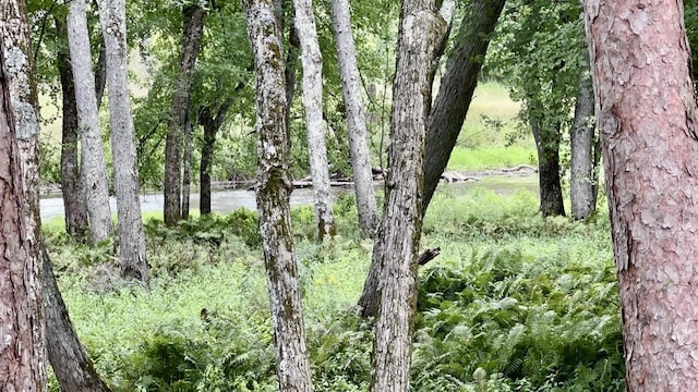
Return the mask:
<path fill-rule="evenodd" d="M 70 3 L 68 44 L 75 81 L 75 102 L 82 144 L 82 188 L 87 204 L 92 241 L 98 243 L 111 235 L 112 224 L 84 0 Z"/>

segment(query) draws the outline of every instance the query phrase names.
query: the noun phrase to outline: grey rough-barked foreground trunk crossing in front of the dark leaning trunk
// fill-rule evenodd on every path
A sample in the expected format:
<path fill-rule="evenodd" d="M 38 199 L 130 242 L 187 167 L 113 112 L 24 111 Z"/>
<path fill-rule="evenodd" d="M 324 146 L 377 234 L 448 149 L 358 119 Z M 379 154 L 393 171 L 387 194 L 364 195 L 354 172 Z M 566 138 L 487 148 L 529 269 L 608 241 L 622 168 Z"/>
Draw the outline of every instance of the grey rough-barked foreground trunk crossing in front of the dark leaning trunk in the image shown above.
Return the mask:
<path fill-rule="evenodd" d="M 432 68 L 447 23 L 433 0 L 404 0 L 393 88 L 386 207 L 382 236 L 374 249 L 383 256 L 374 329 L 371 391 L 408 392 L 417 267 L 422 230 L 424 138 L 431 106 Z M 375 262 L 376 260 L 374 260 Z"/>

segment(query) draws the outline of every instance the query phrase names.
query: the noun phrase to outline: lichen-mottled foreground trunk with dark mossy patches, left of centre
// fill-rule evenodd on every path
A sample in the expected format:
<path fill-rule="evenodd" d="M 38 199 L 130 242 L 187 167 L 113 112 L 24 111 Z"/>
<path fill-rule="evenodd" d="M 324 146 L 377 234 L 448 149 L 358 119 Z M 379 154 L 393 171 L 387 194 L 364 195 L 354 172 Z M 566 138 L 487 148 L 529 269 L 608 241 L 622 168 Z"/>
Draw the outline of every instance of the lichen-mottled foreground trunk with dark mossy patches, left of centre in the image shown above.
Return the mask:
<path fill-rule="evenodd" d="M 256 74 L 260 230 L 279 390 L 312 391 L 289 196 L 289 144 L 281 33 L 272 0 L 243 0 Z"/>

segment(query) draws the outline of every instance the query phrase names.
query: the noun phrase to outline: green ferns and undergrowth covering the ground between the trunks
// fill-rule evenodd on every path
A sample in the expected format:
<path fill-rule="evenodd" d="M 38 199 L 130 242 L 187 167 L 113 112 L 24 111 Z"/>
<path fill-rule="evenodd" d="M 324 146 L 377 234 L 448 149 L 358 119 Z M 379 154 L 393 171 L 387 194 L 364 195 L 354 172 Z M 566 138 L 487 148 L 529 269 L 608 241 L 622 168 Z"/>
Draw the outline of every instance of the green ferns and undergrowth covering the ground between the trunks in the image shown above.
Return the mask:
<path fill-rule="evenodd" d="M 621 391 L 622 336 L 609 223 L 542 219 L 529 191 L 442 189 L 424 222 L 414 391 Z M 292 211 L 316 391 L 364 391 L 371 323 L 353 304 L 372 243 L 350 194 L 339 235 L 312 241 Z M 256 215 L 146 224 L 151 290 L 119 280 L 110 244 L 76 245 L 47 225 L 71 317 L 115 391 L 275 391 Z M 58 390 L 56 382 L 51 389 Z"/>

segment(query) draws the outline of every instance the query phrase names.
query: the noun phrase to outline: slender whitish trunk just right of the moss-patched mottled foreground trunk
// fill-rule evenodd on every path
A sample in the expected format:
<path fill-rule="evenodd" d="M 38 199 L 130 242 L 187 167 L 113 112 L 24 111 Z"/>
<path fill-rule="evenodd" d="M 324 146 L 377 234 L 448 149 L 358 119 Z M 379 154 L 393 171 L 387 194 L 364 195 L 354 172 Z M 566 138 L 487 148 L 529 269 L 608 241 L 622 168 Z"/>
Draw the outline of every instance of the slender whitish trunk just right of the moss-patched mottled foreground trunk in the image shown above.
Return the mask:
<path fill-rule="evenodd" d="M 329 191 L 329 169 L 323 120 L 323 58 L 317 44 L 312 0 L 293 0 L 296 33 L 301 44 L 303 65 L 303 107 L 308 127 L 310 172 L 313 179 L 313 205 L 317 221 L 317 240 L 335 235 L 335 218 Z"/>

